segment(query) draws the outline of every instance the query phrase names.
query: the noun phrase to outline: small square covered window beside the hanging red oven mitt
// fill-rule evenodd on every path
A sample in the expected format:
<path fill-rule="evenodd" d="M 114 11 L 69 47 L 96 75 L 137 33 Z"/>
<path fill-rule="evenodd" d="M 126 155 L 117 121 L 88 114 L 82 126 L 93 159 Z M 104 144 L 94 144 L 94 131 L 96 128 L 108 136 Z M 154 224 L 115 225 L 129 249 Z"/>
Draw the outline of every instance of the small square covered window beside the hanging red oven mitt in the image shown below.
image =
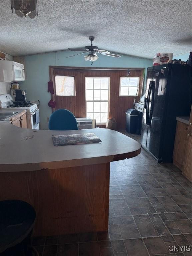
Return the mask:
<path fill-rule="evenodd" d="M 75 96 L 75 77 L 55 76 L 55 93 L 57 96 Z"/>

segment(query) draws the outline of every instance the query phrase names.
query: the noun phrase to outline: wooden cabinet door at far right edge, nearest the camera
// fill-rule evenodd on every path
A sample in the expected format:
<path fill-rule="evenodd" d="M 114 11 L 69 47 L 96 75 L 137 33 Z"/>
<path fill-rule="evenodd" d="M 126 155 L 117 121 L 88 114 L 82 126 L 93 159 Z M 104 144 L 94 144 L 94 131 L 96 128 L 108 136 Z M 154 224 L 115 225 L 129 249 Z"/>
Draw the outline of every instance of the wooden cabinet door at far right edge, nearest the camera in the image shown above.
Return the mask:
<path fill-rule="evenodd" d="M 191 166 L 191 131 L 188 131 L 187 139 L 186 139 L 186 147 L 185 147 L 185 158 L 183 163 L 183 169 L 182 174 L 188 178 L 191 181 L 191 172 L 192 172 L 192 166 Z"/>

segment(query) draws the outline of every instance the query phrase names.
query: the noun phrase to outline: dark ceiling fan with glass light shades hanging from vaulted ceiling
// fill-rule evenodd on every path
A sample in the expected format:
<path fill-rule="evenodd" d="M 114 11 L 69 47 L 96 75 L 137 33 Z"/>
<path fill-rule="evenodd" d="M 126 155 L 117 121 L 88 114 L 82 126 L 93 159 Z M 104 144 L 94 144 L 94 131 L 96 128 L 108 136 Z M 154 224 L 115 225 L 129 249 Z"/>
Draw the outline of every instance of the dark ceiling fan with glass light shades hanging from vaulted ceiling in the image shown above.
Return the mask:
<path fill-rule="evenodd" d="M 88 55 L 85 56 L 85 60 L 90 60 L 90 61 L 96 61 L 99 57 L 97 56 L 97 53 L 111 56 L 111 57 L 116 57 L 120 58 L 121 56 L 118 54 L 113 54 L 105 50 L 99 50 L 97 46 L 93 45 L 93 40 L 95 39 L 94 36 L 89 36 L 89 40 L 91 41 L 91 45 L 85 46 L 85 48 L 68 48 L 70 51 L 73 52 L 81 52 L 72 56 L 68 56 L 66 58 L 70 58 L 76 55 L 88 53 Z"/>

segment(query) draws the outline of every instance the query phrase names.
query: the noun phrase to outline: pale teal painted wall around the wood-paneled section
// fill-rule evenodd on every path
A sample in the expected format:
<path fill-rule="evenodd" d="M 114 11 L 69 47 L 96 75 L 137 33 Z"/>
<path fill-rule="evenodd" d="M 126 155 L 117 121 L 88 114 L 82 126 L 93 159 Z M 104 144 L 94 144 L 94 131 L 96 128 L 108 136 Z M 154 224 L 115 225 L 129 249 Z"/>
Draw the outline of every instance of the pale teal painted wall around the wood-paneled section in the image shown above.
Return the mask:
<path fill-rule="evenodd" d="M 25 56 L 26 80 L 20 82 L 20 87 L 21 89 L 26 89 L 28 100 L 40 100 L 39 110 L 41 129 L 48 129 L 47 118 L 51 115 L 51 108 L 47 105 L 51 99 L 50 93 L 47 92 L 49 66 L 147 68 L 153 65 L 153 61 L 150 59 L 127 55 L 121 55 L 121 58 L 99 55 L 99 59 L 91 65 L 90 61 L 84 60 L 84 54 L 66 58 L 73 54 L 77 54 L 77 52 L 67 50 Z"/>

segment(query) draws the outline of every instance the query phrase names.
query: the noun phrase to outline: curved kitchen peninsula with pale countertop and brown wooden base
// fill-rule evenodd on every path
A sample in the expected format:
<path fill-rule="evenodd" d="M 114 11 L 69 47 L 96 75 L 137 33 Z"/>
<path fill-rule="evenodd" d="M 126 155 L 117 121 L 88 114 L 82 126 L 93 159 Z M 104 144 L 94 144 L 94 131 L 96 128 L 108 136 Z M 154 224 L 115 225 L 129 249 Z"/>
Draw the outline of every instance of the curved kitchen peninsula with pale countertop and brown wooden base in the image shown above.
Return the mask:
<path fill-rule="evenodd" d="M 93 132 L 101 143 L 55 147 L 52 135 Z M 49 131 L 0 123 L 0 200 L 36 210 L 36 236 L 108 229 L 110 162 L 141 145 L 109 129 Z"/>

